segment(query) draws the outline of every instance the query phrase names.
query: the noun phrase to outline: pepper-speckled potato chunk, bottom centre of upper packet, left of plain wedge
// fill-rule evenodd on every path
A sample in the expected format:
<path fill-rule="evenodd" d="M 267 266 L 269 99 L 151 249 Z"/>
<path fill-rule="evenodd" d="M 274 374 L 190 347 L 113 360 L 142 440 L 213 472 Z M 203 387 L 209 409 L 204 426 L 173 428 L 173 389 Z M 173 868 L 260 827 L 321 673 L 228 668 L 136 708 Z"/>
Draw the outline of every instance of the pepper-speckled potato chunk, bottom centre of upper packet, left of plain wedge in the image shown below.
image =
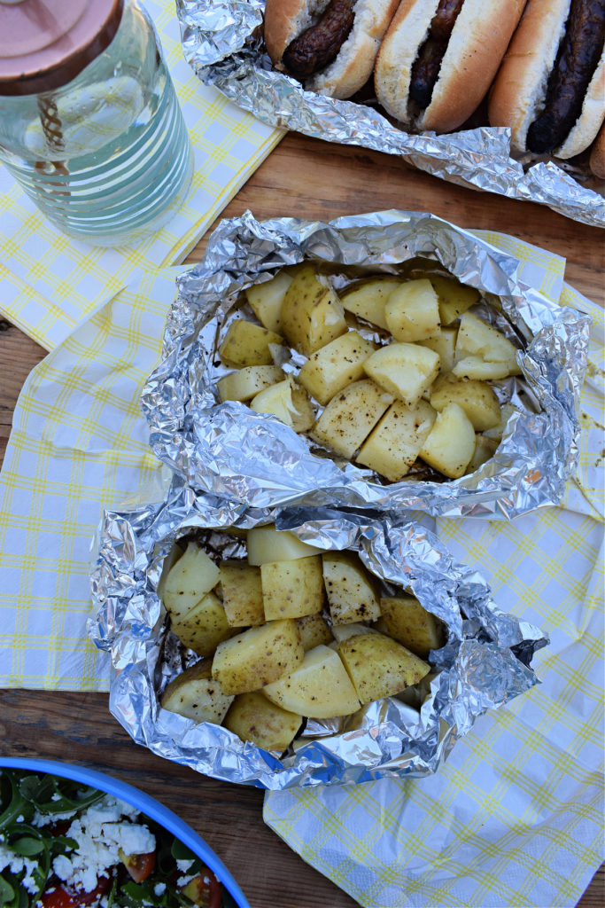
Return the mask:
<path fill-rule="evenodd" d="M 361 446 L 356 460 L 391 482 L 399 482 L 414 464 L 433 427 L 435 412 L 425 400 L 410 409 L 395 400 Z"/>

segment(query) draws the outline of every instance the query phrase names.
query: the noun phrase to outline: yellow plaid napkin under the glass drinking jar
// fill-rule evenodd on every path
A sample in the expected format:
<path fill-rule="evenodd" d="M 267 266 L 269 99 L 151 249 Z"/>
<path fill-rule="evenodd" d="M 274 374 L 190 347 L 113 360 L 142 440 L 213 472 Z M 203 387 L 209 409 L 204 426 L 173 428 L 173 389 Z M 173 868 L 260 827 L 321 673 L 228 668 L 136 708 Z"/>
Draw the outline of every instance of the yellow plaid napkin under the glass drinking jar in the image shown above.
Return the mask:
<path fill-rule="evenodd" d="M 284 134 L 202 85 L 185 61 L 174 0 L 142 0 L 161 38 L 190 133 L 194 175 L 181 211 L 132 247 L 102 249 L 58 231 L 0 165 L 0 315 L 46 350 L 137 271 L 179 264 Z"/>

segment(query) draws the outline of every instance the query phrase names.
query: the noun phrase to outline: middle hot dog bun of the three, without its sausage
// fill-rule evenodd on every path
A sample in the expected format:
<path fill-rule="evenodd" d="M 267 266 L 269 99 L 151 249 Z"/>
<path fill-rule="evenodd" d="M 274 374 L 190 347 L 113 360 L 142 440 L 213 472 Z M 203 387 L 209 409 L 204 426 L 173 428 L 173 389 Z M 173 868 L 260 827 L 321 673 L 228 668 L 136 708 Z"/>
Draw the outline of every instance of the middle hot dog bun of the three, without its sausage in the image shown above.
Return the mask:
<path fill-rule="evenodd" d="M 468 119 L 487 93 L 525 0 L 464 0 L 439 67 L 430 103 L 410 99 L 415 60 L 439 0 L 403 0 L 376 58 L 376 96 L 408 130 L 447 133 Z"/>

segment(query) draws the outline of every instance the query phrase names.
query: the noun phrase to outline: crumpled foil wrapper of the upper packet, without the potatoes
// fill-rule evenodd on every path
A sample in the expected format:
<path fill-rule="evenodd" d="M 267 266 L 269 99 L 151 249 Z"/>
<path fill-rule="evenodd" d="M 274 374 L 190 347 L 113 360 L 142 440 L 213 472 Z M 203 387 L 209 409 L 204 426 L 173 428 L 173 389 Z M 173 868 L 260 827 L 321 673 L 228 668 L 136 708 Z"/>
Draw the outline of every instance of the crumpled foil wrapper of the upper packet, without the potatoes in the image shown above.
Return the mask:
<path fill-rule="evenodd" d="M 305 435 L 239 402 L 220 403 L 227 370 L 217 350 L 231 320 L 253 313 L 241 291 L 284 265 L 329 269 L 336 289 L 368 273 L 399 273 L 415 261 L 481 291 L 477 304 L 520 348 L 522 375 L 493 382 L 512 405 L 493 458 L 461 479 L 410 473 L 385 484 L 338 464 Z M 221 222 L 202 262 L 177 279 L 160 366 L 143 390 L 151 448 L 200 491 L 254 508 L 306 505 L 421 510 L 446 517 L 513 518 L 561 501 L 578 457 L 579 395 L 590 319 L 561 308 L 522 280 L 521 262 L 454 224 L 421 212 L 372 212 L 333 222 Z M 369 326 L 369 331 L 372 331 Z M 279 363 L 297 373 L 289 350 Z M 319 456 L 324 453 L 325 456 Z"/>

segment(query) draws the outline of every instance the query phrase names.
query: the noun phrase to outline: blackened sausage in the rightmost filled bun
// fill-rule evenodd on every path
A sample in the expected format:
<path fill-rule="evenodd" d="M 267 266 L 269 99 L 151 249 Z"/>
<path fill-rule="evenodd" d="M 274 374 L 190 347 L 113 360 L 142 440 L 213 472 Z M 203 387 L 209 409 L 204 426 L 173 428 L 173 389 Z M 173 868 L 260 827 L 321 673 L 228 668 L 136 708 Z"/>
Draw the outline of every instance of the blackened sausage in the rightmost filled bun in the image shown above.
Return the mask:
<path fill-rule="evenodd" d="M 526 144 L 531 152 L 551 152 L 571 133 L 599 64 L 604 40 L 605 0 L 571 0 L 544 109 L 527 131 Z"/>

